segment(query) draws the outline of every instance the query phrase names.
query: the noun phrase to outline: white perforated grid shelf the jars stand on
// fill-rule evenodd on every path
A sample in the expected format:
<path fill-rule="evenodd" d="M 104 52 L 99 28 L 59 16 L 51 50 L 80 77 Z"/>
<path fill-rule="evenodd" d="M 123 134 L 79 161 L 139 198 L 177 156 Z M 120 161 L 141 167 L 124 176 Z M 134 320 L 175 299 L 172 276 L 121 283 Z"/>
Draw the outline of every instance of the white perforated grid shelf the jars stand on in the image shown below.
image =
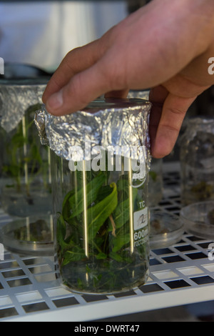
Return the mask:
<path fill-rule="evenodd" d="M 166 167 L 157 209 L 179 214 L 178 169 Z M 9 217 L 0 212 L 0 225 Z M 210 240 L 183 234 L 180 242 L 151 250 L 146 285 L 120 295 L 77 295 L 57 283 L 53 257 L 5 252 L 0 261 L 0 321 L 94 321 L 165 307 L 214 300 Z"/>

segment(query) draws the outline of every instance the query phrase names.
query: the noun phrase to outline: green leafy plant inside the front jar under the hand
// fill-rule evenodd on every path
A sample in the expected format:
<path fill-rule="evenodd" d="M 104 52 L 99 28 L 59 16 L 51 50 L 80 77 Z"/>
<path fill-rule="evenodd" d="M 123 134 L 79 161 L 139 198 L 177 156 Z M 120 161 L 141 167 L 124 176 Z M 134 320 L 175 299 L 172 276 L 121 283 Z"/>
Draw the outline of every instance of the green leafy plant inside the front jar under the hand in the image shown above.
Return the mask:
<path fill-rule="evenodd" d="M 87 292 L 138 285 L 148 268 L 147 239 L 131 251 L 131 211 L 142 201 L 138 188 L 130 187 L 128 174 L 106 184 L 108 172 L 86 172 L 85 186 L 83 172 L 73 174 L 78 175 L 78 189 L 64 197 L 56 225 L 63 282 Z"/>

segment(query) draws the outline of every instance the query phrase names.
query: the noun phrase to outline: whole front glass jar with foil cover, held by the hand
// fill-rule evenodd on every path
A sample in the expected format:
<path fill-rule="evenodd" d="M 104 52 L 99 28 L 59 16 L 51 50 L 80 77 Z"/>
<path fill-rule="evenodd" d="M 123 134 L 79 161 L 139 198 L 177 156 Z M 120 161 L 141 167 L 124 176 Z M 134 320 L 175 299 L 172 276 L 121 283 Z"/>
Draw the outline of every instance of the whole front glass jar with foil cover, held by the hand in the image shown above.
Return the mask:
<path fill-rule="evenodd" d="M 58 119 L 45 112 L 57 275 L 74 292 L 121 292 L 148 277 L 151 105 L 125 102 L 93 102 Z M 128 153 L 134 137 L 135 144 L 143 141 L 138 157 Z"/>

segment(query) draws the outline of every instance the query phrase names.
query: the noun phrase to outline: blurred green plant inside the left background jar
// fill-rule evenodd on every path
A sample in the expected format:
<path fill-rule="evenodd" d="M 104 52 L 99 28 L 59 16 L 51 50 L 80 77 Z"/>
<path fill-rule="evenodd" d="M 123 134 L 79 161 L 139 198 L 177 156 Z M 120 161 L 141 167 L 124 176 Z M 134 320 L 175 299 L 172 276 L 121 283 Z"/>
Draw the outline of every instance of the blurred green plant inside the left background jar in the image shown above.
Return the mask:
<path fill-rule="evenodd" d="M 3 166 L 3 172 L 13 180 L 6 187 L 16 188 L 17 192 L 21 192 L 24 184 L 27 196 L 30 195 L 30 185 L 34 177 L 40 173 L 45 175 L 48 169 L 48 162 L 41 157 L 39 137 L 34 132 L 34 112 L 39 107 L 41 104 L 29 107 L 11 136 L 5 132 L 7 162 Z"/>

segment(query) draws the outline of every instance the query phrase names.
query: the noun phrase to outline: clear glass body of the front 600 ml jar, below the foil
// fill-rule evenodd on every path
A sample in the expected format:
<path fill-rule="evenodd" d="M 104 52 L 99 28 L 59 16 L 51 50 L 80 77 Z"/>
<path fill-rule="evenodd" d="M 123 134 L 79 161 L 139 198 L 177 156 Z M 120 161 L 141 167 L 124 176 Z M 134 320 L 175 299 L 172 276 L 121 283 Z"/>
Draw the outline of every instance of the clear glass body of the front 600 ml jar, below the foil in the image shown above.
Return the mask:
<path fill-rule="evenodd" d="M 131 172 L 72 172 L 54 153 L 51 167 L 63 284 L 91 293 L 143 285 L 149 255 L 147 178 L 143 184 L 136 179 L 136 187 Z"/>

